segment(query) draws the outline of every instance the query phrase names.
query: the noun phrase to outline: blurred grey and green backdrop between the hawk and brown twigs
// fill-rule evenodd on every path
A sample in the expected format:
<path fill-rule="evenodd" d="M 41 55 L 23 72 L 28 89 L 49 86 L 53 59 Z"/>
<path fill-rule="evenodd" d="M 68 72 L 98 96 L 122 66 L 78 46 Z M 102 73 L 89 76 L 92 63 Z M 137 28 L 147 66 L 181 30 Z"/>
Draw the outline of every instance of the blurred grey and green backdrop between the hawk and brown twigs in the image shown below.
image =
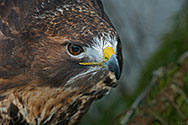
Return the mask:
<path fill-rule="evenodd" d="M 118 87 L 92 104 L 82 125 L 112 125 L 148 85 L 154 70 L 176 64 L 188 51 L 188 1 L 103 0 L 103 4 L 123 43 L 124 69 Z"/>

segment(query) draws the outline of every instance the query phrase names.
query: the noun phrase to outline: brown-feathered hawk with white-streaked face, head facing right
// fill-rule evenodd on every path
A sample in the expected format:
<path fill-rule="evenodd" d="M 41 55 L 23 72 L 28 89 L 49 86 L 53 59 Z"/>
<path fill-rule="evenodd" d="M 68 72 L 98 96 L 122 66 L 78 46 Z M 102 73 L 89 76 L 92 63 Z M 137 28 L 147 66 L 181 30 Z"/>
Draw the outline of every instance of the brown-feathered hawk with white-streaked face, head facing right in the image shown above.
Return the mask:
<path fill-rule="evenodd" d="M 0 0 L 1 124 L 78 124 L 121 68 L 100 0 Z"/>

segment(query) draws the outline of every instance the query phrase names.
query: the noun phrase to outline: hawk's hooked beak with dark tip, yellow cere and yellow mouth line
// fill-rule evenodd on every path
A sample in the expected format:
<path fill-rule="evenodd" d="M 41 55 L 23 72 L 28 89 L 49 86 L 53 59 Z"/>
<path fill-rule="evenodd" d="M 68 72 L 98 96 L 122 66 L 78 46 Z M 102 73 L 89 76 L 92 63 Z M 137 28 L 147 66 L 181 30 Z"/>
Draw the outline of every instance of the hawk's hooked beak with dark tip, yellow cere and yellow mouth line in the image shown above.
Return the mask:
<path fill-rule="evenodd" d="M 116 79 L 120 78 L 120 67 L 118 59 L 116 58 L 115 52 L 112 47 L 106 47 L 103 50 L 104 62 L 80 62 L 80 65 L 99 65 L 105 69 L 114 72 Z"/>

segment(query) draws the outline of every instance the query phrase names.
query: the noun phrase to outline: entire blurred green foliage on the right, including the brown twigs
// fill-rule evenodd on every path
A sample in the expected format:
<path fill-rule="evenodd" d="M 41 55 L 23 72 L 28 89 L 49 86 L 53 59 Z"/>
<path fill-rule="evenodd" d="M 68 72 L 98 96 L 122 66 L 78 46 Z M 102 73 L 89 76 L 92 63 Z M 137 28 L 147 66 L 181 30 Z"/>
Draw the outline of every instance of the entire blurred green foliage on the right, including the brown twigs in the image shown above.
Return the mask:
<path fill-rule="evenodd" d="M 137 94 L 151 81 L 154 70 L 163 66 L 165 71 L 129 124 L 188 124 L 188 53 L 179 62 L 188 51 L 188 2 L 175 16 L 173 26 L 142 72 Z"/>

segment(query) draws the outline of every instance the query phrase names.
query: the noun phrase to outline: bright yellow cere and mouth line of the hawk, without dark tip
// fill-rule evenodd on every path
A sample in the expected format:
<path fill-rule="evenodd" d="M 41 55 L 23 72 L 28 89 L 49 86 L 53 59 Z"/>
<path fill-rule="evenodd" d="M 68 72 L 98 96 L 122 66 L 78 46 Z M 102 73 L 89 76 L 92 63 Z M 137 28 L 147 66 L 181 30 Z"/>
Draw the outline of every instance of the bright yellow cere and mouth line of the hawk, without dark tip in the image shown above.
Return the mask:
<path fill-rule="evenodd" d="M 102 65 L 103 63 L 107 62 L 110 60 L 110 57 L 115 54 L 114 50 L 112 47 L 106 47 L 103 50 L 103 56 L 104 56 L 104 61 L 103 62 L 79 62 L 80 65 Z"/>

